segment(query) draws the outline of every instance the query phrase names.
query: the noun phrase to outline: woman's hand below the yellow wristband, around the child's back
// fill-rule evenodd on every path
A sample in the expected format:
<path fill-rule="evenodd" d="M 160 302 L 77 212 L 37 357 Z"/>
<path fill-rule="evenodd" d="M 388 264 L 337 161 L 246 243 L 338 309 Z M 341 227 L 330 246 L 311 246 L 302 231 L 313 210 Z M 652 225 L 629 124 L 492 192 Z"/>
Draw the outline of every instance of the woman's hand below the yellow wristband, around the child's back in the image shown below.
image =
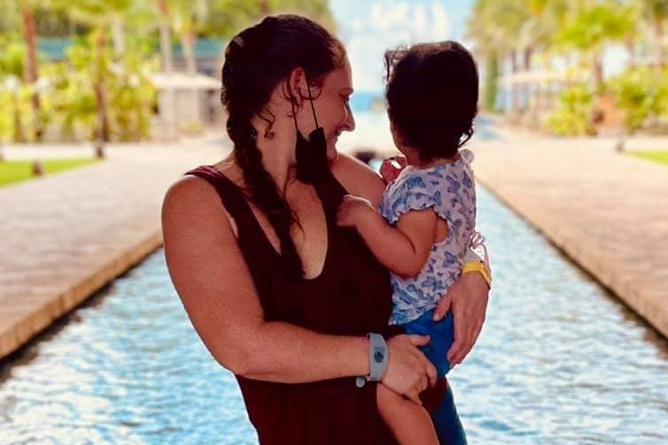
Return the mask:
<path fill-rule="evenodd" d="M 447 351 L 447 360 L 452 366 L 462 363 L 478 340 L 483 328 L 489 287 L 477 272 L 463 273 L 440 299 L 434 311 L 434 321 L 453 311 L 454 343 Z"/>

